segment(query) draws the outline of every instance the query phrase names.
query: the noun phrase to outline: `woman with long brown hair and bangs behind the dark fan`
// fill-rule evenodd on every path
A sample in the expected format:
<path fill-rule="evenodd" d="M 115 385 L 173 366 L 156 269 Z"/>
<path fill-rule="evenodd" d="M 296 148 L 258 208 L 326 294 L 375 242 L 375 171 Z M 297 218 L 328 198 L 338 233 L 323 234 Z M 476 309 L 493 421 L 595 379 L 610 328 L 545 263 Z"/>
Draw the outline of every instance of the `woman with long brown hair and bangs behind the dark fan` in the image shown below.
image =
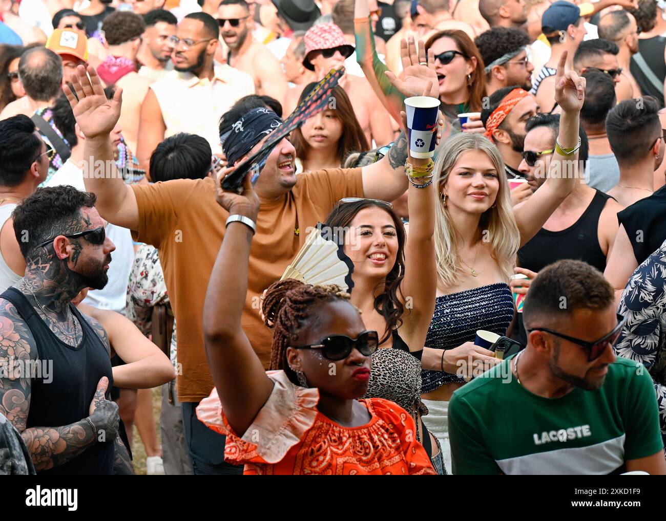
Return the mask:
<path fill-rule="evenodd" d="M 316 85 L 306 85 L 300 94 L 299 104 Z M 350 150 L 365 152 L 370 148 L 344 88 L 339 85 L 334 87 L 331 96 L 335 104 L 306 119 L 303 126 L 291 134 L 291 142 L 296 148 L 297 174 L 340 168 Z"/>

